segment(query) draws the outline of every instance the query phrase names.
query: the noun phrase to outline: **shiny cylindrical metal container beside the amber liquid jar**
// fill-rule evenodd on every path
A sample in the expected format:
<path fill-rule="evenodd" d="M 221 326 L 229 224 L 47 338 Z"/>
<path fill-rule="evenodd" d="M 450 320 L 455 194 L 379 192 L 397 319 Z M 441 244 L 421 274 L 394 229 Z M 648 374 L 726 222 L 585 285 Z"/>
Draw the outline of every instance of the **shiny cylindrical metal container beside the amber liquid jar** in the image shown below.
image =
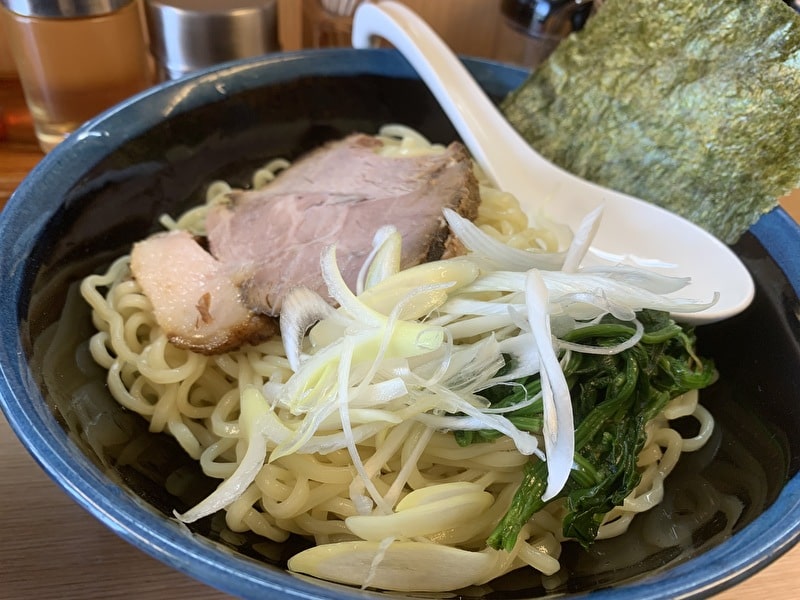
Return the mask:
<path fill-rule="evenodd" d="M 169 78 L 278 49 L 276 0 L 147 0 L 153 55 Z"/>

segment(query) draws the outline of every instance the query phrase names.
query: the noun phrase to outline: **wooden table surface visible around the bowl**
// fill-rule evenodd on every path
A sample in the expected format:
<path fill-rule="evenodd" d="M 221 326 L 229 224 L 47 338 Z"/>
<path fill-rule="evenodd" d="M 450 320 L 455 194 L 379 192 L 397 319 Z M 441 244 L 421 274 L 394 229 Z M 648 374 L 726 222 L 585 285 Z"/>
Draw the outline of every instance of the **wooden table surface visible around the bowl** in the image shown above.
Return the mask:
<path fill-rule="evenodd" d="M 0 82 L 0 208 L 41 160 L 16 82 Z M 800 220 L 800 192 L 781 203 Z M 222 599 L 225 594 L 129 545 L 72 501 L 34 462 L 0 416 L 0 599 Z M 798 596 L 800 546 L 717 596 Z"/>

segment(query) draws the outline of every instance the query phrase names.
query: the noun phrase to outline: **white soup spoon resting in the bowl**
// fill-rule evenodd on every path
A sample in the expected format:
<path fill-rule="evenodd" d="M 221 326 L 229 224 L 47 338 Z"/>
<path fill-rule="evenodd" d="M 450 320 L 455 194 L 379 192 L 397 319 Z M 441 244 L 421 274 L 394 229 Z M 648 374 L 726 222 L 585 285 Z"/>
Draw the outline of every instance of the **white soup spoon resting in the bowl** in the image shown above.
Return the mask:
<path fill-rule="evenodd" d="M 625 261 L 691 277 L 691 283 L 677 293 L 682 297 L 710 300 L 719 293 L 714 306 L 680 315 L 683 321 L 719 321 L 750 304 L 753 280 L 728 246 L 675 213 L 588 182 L 546 160 L 516 132 L 416 13 L 390 0 L 361 4 L 353 20 L 353 46 L 368 48 L 373 36 L 386 39 L 411 63 L 478 164 L 524 208 L 541 210 L 574 230 L 584 215 L 603 205 L 589 260 Z"/>

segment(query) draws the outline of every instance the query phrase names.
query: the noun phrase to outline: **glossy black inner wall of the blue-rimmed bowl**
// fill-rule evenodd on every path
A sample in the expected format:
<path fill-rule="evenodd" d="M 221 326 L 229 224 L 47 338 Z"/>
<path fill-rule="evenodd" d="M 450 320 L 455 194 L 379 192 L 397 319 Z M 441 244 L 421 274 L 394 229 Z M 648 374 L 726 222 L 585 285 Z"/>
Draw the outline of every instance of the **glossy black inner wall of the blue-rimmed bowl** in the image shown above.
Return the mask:
<path fill-rule="evenodd" d="M 268 159 L 294 158 L 353 131 L 375 132 L 400 122 L 435 141 L 457 139 L 419 81 L 381 76 L 305 77 L 247 90 L 159 123 L 91 166 L 65 191 L 29 260 L 30 290 L 21 306 L 23 342 L 38 385 L 74 443 L 97 466 L 153 510 L 185 510 L 215 485 L 171 438 L 113 401 L 104 374 L 86 351 L 88 308 L 75 282 L 107 266 L 158 229 L 162 213 L 177 215 L 201 201 L 205 186 L 223 178 L 246 187 Z M 689 455 L 667 484 L 663 508 L 635 522 L 622 538 L 584 552 L 568 546 L 565 577 L 546 591 L 531 573 L 513 574 L 483 591 L 487 598 L 608 588 L 685 561 L 722 542 L 769 506 L 800 466 L 800 348 L 797 294 L 751 234 L 736 245 L 757 284 L 744 314 L 699 331 L 700 350 L 715 359 L 718 383 L 702 396 L 718 427 L 713 443 Z M 687 427 L 691 427 L 687 424 Z M 716 508 L 699 514 L 704 498 L 734 498 L 735 523 Z M 658 514 L 655 514 L 658 513 Z M 658 519 L 696 519 L 690 539 L 648 537 Z M 231 534 L 210 517 L 193 529 L 235 552 L 280 568 L 302 540 L 286 545 Z M 622 558 L 620 558 L 622 557 Z"/>

